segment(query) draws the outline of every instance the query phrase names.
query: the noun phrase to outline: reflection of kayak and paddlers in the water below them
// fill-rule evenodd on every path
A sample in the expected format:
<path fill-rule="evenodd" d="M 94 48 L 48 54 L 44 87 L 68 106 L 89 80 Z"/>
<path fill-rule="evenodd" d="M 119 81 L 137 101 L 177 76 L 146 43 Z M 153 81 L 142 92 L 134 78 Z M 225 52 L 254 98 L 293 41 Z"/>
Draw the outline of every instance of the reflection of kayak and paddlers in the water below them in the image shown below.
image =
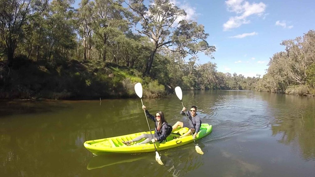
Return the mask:
<path fill-rule="evenodd" d="M 147 173 L 144 176 L 185 176 L 186 173 L 204 165 L 204 158 L 196 155 L 194 146 L 185 146 L 180 150 L 161 152 L 163 166 L 156 163 L 154 153 L 102 155 L 90 159 L 87 169 L 111 171 L 122 169 L 113 176 L 130 176 Z M 99 172 L 99 171 L 98 171 Z M 119 174 L 117 174 L 119 173 Z"/>

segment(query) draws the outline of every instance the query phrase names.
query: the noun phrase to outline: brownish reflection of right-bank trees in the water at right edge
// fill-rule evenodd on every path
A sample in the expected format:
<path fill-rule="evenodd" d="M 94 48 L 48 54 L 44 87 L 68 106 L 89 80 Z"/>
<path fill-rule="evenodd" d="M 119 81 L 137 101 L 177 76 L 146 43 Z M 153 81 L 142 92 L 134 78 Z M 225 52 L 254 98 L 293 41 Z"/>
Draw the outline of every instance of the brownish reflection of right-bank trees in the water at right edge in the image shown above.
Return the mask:
<path fill-rule="evenodd" d="M 298 143 L 305 160 L 315 159 L 315 102 L 313 99 L 283 95 L 269 99 L 279 123 L 272 124 L 272 135 L 281 135 L 278 142 Z"/>

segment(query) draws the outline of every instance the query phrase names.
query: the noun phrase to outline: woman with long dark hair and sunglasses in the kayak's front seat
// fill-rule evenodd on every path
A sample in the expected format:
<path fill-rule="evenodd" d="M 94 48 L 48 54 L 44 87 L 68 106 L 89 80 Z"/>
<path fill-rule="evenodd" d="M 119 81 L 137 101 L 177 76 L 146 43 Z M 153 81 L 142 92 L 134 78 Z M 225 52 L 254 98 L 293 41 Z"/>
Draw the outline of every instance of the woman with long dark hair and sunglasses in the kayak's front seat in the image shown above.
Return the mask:
<path fill-rule="evenodd" d="M 142 109 L 146 111 L 146 117 L 149 117 L 151 120 L 155 122 L 155 133 L 153 134 L 153 139 L 151 134 L 142 134 L 132 140 L 129 141 L 123 141 L 124 144 L 127 146 L 130 146 L 130 143 L 139 141 L 142 138 L 146 138 L 144 141 L 141 141 L 138 144 L 145 144 L 150 141 L 155 142 L 159 141 L 162 142 L 166 139 L 167 136 L 172 132 L 172 126 L 168 125 L 166 120 L 164 119 L 164 114 L 162 111 L 157 111 L 155 117 L 149 113 L 148 110 L 146 110 L 146 106 L 142 106 Z"/>

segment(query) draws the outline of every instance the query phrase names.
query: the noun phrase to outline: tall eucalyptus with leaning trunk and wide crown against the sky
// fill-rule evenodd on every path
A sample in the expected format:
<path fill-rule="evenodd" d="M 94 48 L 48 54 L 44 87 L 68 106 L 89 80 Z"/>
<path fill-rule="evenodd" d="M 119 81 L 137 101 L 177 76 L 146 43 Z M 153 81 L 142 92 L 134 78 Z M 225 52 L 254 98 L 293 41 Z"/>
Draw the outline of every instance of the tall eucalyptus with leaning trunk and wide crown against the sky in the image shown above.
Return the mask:
<path fill-rule="evenodd" d="M 170 50 L 184 56 L 196 55 L 198 52 L 210 55 L 215 51 L 215 47 L 209 46 L 206 41 L 209 34 L 204 32 L 203 25 L 198 25 L 194 21 L 180 20 L 186 16 L 186 12 L 170 3 L 169 0 L 149 0 L 148 2 L 130 0 L 127 4 L 135 15 L 130 20 L 135 30 L 148 36 L 153 42 L 154 48 L 147 61 L 145 75 L 150 74 L 154 55 L 160 47 L 175 47 Z M 139 23 L 141 29 L 137 28 Z"/>

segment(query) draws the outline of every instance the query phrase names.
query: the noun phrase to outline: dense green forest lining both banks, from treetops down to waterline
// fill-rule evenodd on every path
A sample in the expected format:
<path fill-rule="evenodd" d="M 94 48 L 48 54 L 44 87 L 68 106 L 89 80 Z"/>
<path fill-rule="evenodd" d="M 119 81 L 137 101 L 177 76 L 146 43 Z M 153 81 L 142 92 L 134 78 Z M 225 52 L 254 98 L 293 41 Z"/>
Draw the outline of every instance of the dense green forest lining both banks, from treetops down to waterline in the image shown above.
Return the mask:
<path fill-rule="evenodd" d="M 183 90 L 315 94 L 315 31 L 282 41 L 262 78 L 218 72 L 204 26 L 169 0 L 0 0 L 0 99 L 145 97 Z"/>

